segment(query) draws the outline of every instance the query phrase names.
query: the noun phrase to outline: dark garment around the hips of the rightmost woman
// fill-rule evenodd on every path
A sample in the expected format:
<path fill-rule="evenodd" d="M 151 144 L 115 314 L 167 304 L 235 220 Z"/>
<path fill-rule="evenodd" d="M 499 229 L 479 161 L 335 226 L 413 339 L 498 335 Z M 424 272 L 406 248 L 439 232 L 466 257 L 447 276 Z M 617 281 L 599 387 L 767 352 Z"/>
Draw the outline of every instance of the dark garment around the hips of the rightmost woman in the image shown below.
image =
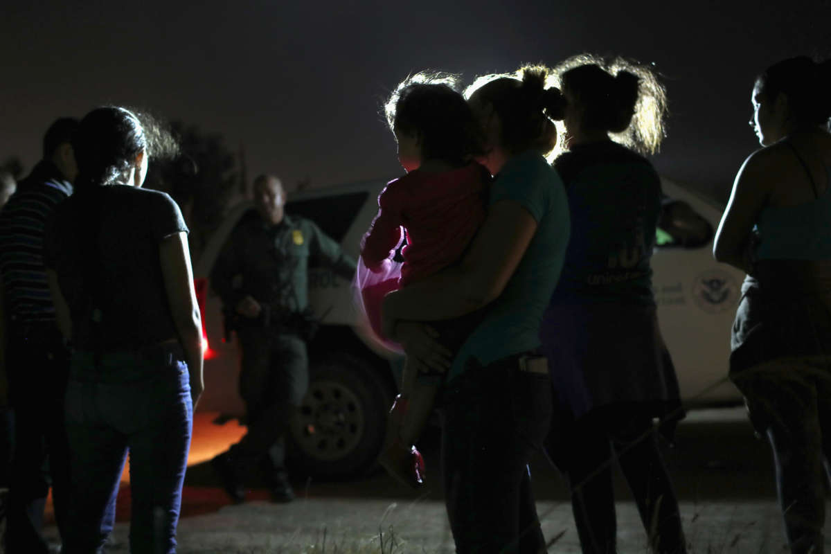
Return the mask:
<path fill-rule="evenodd" d="M 741 291 L 730 380 L 761 435 L 786 429 L 794 406 L 824 404 L 820 391 L 831 390 L 831 262 L 759 262 Z"/>

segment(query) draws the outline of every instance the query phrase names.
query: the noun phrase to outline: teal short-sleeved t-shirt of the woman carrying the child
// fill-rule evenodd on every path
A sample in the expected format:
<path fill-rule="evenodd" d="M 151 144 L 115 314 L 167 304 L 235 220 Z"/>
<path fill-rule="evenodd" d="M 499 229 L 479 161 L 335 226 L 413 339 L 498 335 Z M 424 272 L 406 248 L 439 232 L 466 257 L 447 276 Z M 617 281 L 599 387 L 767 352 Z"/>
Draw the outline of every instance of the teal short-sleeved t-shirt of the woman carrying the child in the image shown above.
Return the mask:
<path fill-rule="evenodd" d="M 489 198 L 491 206 L 500 200 L 518 202 L 538 227 L 504 291 L 486 306 L 483 320 L 461 346 L 448 379 L 465 370 L 471 355 L 489 365 L 540 346 L 539 324 L 568 246 L 571 224 L 563 181 L 538 152 L 509 159 L 491 185 Z"/>

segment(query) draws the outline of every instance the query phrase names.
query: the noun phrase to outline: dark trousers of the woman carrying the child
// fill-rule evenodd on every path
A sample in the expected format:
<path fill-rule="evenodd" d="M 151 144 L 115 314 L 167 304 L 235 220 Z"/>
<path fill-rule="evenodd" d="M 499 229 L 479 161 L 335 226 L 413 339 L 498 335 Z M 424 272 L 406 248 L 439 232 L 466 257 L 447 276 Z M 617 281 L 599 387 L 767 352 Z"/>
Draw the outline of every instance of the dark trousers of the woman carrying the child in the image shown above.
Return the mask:
<path fill-rule="evenodd" d="M 548 375 L 519 371 L 517 357 L 469 362 L 442 400 L 445 503 L 456 552 L 545 552 L 529 458 L 551 419 Z"/>

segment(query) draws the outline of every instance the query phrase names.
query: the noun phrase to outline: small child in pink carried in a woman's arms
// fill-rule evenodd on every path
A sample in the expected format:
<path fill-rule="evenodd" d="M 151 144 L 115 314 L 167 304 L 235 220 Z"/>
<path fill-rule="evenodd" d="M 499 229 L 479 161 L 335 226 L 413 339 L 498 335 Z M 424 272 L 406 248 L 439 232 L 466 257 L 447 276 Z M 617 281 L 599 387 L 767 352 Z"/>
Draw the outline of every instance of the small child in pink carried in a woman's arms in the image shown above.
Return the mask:
<path fill-rule="evenodd" d="M 378 197 L 378 214 L 361 241 L 358 287 L 371 327 L 381 336 L 386 293 L 417 282 L 460 259 L 484 219 L 490 176 L 473 161 L 483 138 L 470 107 L 448 76 L 419 74 L 399 85 L 386 118 L 407 174 Z M 403 232 L 402 232 L 403 228 Z M 396 248 L 404 262 L 392 261 Z M 457 350 L 477 316 L 434 321 L 440 339 Z M 413 446 L 435 403 L 440 380 L 405 367 L 401 395 L 390 410 L 379 463 L 413 487 L 423 483 L 424 461 Z"/>

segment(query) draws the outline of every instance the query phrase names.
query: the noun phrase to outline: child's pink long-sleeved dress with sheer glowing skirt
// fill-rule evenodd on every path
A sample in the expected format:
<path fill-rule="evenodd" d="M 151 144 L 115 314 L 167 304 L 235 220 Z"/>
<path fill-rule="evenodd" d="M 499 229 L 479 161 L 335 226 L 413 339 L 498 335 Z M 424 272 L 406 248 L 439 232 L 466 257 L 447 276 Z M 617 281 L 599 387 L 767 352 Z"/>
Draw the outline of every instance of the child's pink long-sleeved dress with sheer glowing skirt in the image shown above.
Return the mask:
<path fill-rule="evenodd" d="M 416 169 L 391 180 L 378 197 L 378 214 L 361 240 L 356 300 L 372 331 L 391 349 L 401 350 L 381 335 L 381 302 L 388 292 L 460 259 L 484 220 L 489 179 L 475 163 L 442 173 Z M 402 237 L 404 262 L 393 262 Z"/>

